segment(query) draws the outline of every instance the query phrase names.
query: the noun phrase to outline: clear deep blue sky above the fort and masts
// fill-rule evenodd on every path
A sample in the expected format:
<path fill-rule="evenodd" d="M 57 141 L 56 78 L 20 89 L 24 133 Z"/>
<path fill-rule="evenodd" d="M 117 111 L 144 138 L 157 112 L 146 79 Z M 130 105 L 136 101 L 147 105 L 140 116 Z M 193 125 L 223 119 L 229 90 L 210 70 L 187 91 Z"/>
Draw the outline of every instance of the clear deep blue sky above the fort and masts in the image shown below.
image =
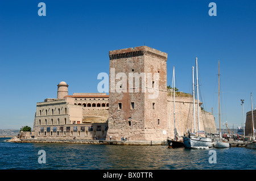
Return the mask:
<path fill-rule="evenodd" d="M 38 3 L 46 16 L 38 16 Z M 217 16 L 209 16 L 210 2 Z M 97 92 L 98 73 L 109 73 L 109 50 L 146 43 L 168 53 L 176 87 L 191 91 L 198 57 L 205 110 L 218 113 L 221 65 L 222 121 L 242 124 L 242 106 L 256 102 L 256 1 L 0 1 L 0 129 L 33 126 L 36 102 Z M 218 117 L 217 115 L 216 118 Z M 216 123 L 217 123 L 216 119 Z M 218 124 L 217 124 L 218 127 Z"/>

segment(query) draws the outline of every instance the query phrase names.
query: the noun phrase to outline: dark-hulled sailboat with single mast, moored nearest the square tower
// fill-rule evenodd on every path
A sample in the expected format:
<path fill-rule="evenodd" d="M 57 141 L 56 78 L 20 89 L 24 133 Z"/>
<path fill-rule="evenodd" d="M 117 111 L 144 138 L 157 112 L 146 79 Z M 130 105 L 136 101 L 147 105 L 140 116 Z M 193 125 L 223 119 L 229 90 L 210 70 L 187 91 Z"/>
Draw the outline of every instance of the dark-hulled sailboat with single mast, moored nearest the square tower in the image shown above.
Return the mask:
<path fill-rule="evenodd" d="M 171 140 L 167 138 L 167 142 L 168 142 L 169 148 L 183 148 L 184 144 L 183 144 L 183 141 L 179 140 L 179 138 L 177 137 L 177 130 L 176 130 L 176 124 L 175 124 L 176 122 L 175 120 L 175 68 L 172 75 L 172 80 L 174 82 L 174 89 L 173 89 L 174 90 L 174 139 Z M 170 105 L 170 110 L 171 110 L 171 105 Z"/>

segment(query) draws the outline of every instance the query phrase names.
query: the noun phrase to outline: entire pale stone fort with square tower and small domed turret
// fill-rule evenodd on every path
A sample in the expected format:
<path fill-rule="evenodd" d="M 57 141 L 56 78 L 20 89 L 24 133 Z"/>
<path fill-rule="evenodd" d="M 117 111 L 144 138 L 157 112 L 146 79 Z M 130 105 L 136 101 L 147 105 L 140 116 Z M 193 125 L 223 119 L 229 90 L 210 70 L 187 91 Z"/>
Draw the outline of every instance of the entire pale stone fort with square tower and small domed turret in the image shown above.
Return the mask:
<path fill-rule="evenodd" d="M 57 85 L 57 98 L 36 103 L 35 139 L 76 137 L 109 140 L 110 136 L 112 140 L 121 140 L 121 137 L 128 140 L 173 138 L 174 116 L 170 106 L 174 102 L 167 92 L 167 57 L 167 53 L 146 46 L 110 51 L 109 95 L 68 95 L 67 83 L 60 82 Z M 111 85 L 111 80 L 119 73 L 126 77 L 129 77 L 129 73 L 150 74 L 152 79 L 140 76 L 139 83 L 133 78 L 119 85 Z M 146 85 L 143 80 L 147 82 Z M 151 96 L 155 92 L 157 96 Z M 193 128 L 192 103 L 191 96 L 176 97 L 176 129 L 180 136 Z M 199 113 L 200 130 L 216 133 L 213 115 L 201 109 Z"/>

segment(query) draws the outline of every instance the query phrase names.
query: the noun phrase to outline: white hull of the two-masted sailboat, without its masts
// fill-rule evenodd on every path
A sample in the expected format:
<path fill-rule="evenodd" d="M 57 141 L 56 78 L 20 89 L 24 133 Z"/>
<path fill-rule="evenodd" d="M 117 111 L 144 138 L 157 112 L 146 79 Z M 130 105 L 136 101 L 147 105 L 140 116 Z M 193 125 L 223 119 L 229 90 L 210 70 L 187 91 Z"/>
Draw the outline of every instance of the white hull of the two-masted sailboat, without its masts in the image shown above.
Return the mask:
<path fill-rule="evenodd" d="M 185 148 L 196 148 L 196 147 L 212 147 L 212 139 L 201 136 L 183 137 L 183 143 Z"/>

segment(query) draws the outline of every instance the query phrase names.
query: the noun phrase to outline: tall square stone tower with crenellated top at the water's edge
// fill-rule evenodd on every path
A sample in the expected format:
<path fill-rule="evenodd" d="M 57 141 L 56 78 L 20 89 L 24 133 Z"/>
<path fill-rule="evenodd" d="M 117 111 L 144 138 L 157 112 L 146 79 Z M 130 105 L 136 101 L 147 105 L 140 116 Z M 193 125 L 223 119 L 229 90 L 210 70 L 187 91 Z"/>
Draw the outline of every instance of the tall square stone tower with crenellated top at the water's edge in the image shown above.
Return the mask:
<path fill-rule="evenodd" d="M 167 53 L 142 46 L 112 50 L 106 139 L 165 140 Z"/>

